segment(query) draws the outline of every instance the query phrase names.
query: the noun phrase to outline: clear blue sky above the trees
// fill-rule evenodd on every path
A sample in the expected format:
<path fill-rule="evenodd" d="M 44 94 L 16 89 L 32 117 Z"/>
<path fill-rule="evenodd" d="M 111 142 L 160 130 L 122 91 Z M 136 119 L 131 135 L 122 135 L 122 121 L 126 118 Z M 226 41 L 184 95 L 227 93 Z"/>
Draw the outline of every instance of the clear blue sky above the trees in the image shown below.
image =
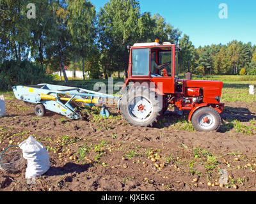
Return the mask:
<path fill-rule="evenodd" d="M 138 0 L 141 12 L 159 13 L 166 22 L 189 35 L 195 47 L 227 44 L 232 40 L 256 45 L 255 0 Z M 99 11 L 108 0 L 91 0 Z M 221 19 L 221 3 L 228 16 Z"/>

